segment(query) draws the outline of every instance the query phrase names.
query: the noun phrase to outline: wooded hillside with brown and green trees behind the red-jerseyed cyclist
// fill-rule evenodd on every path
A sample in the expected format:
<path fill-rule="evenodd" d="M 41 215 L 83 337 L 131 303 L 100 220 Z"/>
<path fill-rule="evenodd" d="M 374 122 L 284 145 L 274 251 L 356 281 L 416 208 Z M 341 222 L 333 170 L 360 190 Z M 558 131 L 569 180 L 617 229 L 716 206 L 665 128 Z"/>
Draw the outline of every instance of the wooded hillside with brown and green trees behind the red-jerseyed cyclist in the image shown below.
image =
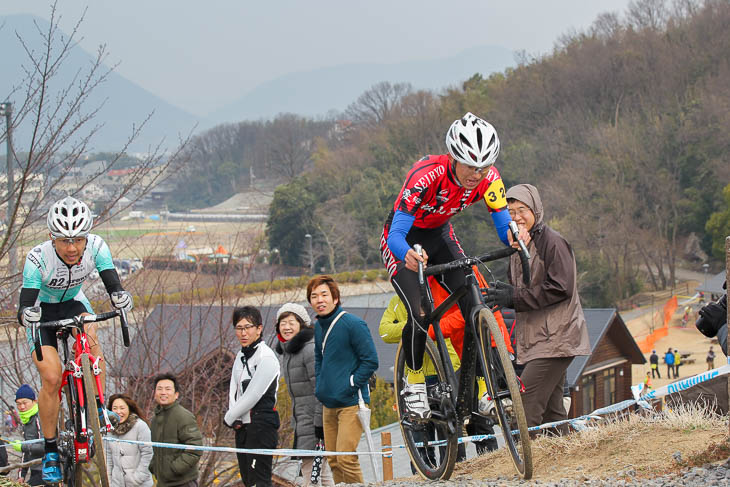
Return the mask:
<path fill-rule="evenodd" d="M 721 258 L 730 233 L 729 23 L 728 0 L 636 0 L 549 54 L 442 92 L 382 82 L 329 118 L 222 125 L 188 144 L 176 204 L 274 179 L 267 238 L 283 263 L 309 264 L 310 235 L 317 271 L 377 267 L 406 172 L 445 152 L 449 124 L 471 111 L 499 132 L 505 184 L 540 189 L 588 303 L 671 286 L 690 234 Z M 489 220 L 481 205 L 454 219 L 467 252 L 499 245 Z"/>

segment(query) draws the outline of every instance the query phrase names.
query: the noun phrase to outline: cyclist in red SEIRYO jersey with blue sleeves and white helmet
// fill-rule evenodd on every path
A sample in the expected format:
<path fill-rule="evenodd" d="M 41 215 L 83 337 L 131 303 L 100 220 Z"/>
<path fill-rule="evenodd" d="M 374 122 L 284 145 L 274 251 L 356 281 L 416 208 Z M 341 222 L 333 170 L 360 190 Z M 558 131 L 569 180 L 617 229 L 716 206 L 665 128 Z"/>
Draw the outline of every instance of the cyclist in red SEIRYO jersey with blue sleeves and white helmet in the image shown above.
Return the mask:
<path fill-rule="evenodd" d="M 426 327 L 418 284 L 418 262 L 443 264 L 465 257 L 454 234 L 450 219 L 465 208 L 484 199 L 500 239 L 512 244 L 508 228 L 504 183 L 494 162 L 499 155 L 499 137 L 494 127 L 472 113 L 455 120 L 446 134 L 448 154 L 429 155 L 413 165 L 388 215 L 380 239 L 380 250 L 395 292 L 408 311 L 403 328 L 407 385 L 403 388 L 410 416 L 426 419 L 431 411 L 426 396 L 423 355 Z M 527 244 L 529 234 L 521 230 Z M 423 246 L 423 256 L 412 248 Z M 447 291 L 465 283 L 464 272 L 451 271 L 439 277 Z M 467 317 L 470 298 L 459 299 L 462 315 Z"/>

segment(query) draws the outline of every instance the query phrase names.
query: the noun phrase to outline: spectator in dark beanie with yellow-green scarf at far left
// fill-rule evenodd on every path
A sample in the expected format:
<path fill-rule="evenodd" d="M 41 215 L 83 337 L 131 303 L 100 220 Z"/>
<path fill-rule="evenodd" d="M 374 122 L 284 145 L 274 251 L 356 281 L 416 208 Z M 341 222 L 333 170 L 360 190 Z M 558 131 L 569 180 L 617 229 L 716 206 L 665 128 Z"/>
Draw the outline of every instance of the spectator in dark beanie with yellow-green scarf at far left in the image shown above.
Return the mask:
<path fill-rule="evenodd" d="M 37 440 L 43 438 L 41 432 L 41 422 L 38 418 L 38 401 L 36 400 L 35 391 L 28 384 L 23 384 L 15 393 L 15 407 L 18 409 L 20 422 L 23 425 L 23 439 Z M 23 453 L 23 463 L 43 458 L 45 451 L 43 443 L 31 443 L 21 445 L 20 442 L 13 442 L 13 449 L 18 453 Z M 28 472 L 30 471 L 30 477 Z M 26 479 L 28 485 L 46 485 L 43 482 L 42 466 L 40 463 L 25 467 L 20 470 L 21 479 Z"/>

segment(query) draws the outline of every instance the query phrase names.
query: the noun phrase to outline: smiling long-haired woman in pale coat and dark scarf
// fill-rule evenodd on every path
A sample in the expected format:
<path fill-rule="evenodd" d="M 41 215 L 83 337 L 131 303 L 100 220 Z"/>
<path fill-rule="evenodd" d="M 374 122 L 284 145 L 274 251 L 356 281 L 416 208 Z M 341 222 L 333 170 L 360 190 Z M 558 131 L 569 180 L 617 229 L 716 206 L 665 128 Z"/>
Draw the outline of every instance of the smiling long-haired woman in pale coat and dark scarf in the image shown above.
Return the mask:
<path fill-rule="evenodd" d="M 137 403 L 126 394 L 114 394 L 107 406 L 119 415 L 112 436 L 121 440 L 150 441 L 150 428 Z M 152 447 L 106 442 L 106 468 L 112 487 L 152 487 L 149 471 Z"/>

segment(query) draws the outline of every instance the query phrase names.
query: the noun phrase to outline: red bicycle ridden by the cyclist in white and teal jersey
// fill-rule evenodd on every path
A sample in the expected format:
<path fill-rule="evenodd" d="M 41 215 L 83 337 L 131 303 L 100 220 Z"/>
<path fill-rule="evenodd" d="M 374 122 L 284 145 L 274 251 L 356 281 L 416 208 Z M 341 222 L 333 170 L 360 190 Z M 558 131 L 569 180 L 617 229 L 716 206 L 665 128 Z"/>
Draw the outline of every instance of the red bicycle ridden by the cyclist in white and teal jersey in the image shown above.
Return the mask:
<path fill-rule="evenodd" d="M 124 310 L 108 313 L 79 315 L 63 320 L 38 323 L 32 329 L 33 341 L 38 360 L 43 360 L 38 330 L 41 328 L 56 329 L 56 335 L 63 349 L 64 372 L 59 399 L 66 393 L 67 418 L 64 420 L 63 408 L 58 422 L 58 450 L 61 458 L 63 482 L 69 487 L 81 487 L 83 479 L 82 465 L 92 459 L 99 473 L 98 482 L 90 475 L 89 485 L 109 487 L 109 476 L 106 470 L 102 434 L 114 428 L 106 408 L 104 407 L 104 385 L 101 383 L 101 357 L 91 354 L 85 325 L 106 321 L 119 316 L 122 326 L 124 346 L 129 346 L 129 328 Z M 73 357 L 67 339 L 75 335 Z M 103 411 L 99 418 L 99 410 Z"/>

